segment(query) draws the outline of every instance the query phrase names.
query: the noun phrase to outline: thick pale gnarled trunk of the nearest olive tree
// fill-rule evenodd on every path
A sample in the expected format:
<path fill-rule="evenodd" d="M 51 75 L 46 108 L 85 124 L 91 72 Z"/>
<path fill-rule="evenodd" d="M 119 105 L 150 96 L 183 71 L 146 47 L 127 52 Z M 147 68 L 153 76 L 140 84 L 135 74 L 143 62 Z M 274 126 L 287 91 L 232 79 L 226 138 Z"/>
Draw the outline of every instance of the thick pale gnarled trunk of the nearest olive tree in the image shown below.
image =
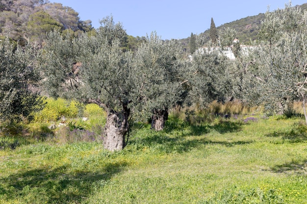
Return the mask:
<path fill-rule="evenodd" d="M 106 118 L 104 127 L 104 148 L 109 151 L 122 150 L 125 147 L 125 136 L 128 132 L 129 109 L 116 113 L 111 112 Z"/>

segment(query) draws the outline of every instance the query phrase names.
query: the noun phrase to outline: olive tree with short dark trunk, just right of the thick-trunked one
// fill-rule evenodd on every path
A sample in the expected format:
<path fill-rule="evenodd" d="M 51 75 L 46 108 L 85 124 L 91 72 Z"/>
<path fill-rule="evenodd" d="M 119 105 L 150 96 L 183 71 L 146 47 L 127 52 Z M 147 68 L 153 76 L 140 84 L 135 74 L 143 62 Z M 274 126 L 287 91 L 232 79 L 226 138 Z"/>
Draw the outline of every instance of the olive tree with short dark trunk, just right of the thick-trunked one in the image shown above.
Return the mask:
<path fill-rule="evenodd" d="M 152 119 L 152 129 L 164 128 L 168 109 L 182 100 L 181 48 L 175 41 L 162 41 L 151 33 L 146 42 L 138 46 L 134 57 L 136 94 L 135 106 Z"/>

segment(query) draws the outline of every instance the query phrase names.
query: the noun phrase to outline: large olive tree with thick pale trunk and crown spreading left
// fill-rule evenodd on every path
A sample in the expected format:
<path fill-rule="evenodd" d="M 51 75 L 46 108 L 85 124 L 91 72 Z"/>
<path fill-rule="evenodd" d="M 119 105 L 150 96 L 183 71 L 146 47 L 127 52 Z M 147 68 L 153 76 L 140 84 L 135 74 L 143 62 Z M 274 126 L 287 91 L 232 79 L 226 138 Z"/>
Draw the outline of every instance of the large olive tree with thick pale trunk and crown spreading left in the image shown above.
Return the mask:
<path fill-rule="evenodd" d="M 128 106 L 134 88 L 132 54 L 120 46 L 122 39 L 117 36 L 125 32 L 122 25 L 112 18 L 102 22 L 104 26 L 92 37 L 70 40 L 59 33 L 49 35 L 44 47 L 46 85 L 54 96 L 77 98 L 104 108 L 104 148 L 114 151 L 124 148 L 128 132 Z"/>

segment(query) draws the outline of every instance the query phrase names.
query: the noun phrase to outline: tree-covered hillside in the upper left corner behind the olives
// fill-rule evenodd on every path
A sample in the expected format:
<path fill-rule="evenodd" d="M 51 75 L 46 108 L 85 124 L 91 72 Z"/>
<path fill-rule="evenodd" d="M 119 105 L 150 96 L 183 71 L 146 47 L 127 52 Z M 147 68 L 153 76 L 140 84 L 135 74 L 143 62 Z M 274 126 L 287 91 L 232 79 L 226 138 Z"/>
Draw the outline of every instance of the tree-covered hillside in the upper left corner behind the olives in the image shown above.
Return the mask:
<path fill-rule="evenodd" d="M 51 30 L 77 36 L 91 31 L 90 20 L 80 20 L 73 8 L 49 0 L 0 0 L 0 34 L 11 40 L 41 43 Z"/>

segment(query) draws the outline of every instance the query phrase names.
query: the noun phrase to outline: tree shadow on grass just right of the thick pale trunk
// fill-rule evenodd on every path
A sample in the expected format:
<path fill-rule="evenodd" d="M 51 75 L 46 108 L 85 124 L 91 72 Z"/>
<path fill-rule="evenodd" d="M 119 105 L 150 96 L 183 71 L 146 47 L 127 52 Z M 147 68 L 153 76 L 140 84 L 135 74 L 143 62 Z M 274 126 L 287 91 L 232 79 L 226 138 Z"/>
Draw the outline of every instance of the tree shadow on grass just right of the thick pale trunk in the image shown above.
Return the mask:
<path fill-rule="evenodd" d="M 253 141 L 212 141 L 203 136 L 212 131 L 220 134 L 237 132 L 242 129 L 241 121 L 222 120 L 217 124 L 199 124 L 189 125 L 186 122 L 173 118 L 167 121 L 163 131 L 155 132 L 149 130 L 149 127 L 136 127 L 140 130 L 140 134 L 136 133 L 130 138 L 128 145 L 137 146 L 140 149 L 144 147 L 152 149 L 154 152 L 160 153 L 183 153 L 197 148 L 202 145 L 220 144 L 227 147 L 233 145 L 247 144 Z M 142 132 L 144 131 L 144 132 Z M 137 130 L 136 130 L 137 132 Z M 194 137 L 196 136 L 196 137 Z M 189 137 L 189 138 L 188 138 Z"/>

